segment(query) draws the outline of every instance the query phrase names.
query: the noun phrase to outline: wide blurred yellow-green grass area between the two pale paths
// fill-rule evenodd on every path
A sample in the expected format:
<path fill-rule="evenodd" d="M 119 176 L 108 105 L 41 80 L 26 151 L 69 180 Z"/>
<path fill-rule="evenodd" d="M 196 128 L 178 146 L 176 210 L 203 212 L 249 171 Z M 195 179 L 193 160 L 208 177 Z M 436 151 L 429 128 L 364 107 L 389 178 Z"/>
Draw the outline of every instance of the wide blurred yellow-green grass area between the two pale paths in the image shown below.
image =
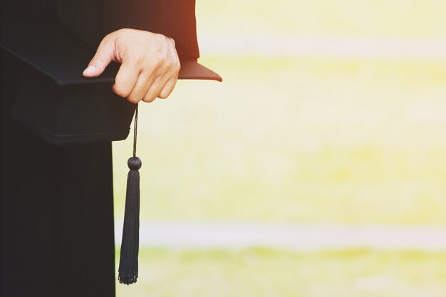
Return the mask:
<path fill-rule="evenodd" d="M 140 106 L 142 219 L 446 224 L 445 62 L 202 62 L 224 82 Z"/>

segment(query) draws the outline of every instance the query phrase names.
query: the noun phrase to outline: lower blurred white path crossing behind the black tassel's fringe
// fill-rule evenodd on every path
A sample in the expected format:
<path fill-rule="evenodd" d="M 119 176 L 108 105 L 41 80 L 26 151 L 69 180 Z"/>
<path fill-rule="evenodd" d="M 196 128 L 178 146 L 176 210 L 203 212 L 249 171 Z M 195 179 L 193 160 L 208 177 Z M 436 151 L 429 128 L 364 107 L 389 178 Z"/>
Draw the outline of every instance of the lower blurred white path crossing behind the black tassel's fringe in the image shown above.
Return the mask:
<path fill-rule="evenodd" d="M 122 221 L 115 224 L 117 246 L 121 236 Z M 141 222 L 140 245 L 173 249 L 255 246 L 296 251 L 358 247 L 446 251 L 446 226 Z"/>

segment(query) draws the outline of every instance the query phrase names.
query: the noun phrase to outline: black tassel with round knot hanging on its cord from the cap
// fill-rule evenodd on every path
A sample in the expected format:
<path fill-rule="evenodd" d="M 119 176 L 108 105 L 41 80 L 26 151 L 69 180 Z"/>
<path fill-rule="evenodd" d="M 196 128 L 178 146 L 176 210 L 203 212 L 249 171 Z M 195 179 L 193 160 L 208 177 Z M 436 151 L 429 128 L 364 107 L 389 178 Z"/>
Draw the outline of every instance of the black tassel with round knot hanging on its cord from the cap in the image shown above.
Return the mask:
<path fill-rule="evenodd" d="M 119 259 L 120 283 L 130 285 L 138 278 L 138 251 L 140 244 L 140 172 L 142 162 L 136 157 L 136 135 L 138 127 L 138 105 L 135 113 L 133 157 L 128 160 L 127 192 L 125 194 L 125 214 L 123 241 Z"/>

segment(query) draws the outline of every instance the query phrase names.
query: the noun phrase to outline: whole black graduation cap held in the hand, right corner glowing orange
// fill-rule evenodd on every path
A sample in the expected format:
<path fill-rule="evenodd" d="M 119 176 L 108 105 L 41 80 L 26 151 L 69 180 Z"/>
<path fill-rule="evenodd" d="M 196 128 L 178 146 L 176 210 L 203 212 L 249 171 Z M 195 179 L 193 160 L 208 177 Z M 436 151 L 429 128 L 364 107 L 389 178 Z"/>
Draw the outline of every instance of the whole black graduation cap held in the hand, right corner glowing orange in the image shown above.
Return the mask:
<path fill-rule="evenodd" d="M 1 49 L 19 58 L 21 75 L 12 110 L 19 123 L 53 145 L 123 140 L 136 105 L 111 90 L 119 65 L 112 63 L 98 78 L 84 78 L 94 51 L 58 26 L 17 22 L 2 30 Z M 222 78 L 180 55 L 180 79 Z"/>

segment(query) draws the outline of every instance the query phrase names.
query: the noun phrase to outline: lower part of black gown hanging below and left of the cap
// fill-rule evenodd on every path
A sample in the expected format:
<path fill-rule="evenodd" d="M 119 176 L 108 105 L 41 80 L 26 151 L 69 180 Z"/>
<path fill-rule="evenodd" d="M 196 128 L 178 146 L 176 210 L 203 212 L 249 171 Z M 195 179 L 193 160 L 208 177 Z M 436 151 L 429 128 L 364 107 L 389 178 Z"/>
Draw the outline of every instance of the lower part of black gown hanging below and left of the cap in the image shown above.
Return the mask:
<path fill-rule="evenodd" d="M 49 145 L 11 118 L 1 55 L 1 296 L 115 296 L 110 142 Z"/>

